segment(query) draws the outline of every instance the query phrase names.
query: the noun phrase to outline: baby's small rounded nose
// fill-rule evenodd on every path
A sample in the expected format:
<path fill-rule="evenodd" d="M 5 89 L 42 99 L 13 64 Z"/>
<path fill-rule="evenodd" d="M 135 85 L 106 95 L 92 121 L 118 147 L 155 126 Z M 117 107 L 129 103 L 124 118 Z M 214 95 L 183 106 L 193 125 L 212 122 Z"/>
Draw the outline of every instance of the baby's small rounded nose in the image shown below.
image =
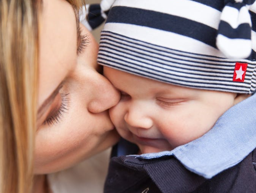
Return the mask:
<path fill-rule="evenodd" d="M 153 126 L 153 120 L 149 117 L 147 108 L 145 106 L 143 108 L 142 106 L 137 106 L 136 104 L 129 106 L 124 120 L 132 127 L 149 129 Z"/>

